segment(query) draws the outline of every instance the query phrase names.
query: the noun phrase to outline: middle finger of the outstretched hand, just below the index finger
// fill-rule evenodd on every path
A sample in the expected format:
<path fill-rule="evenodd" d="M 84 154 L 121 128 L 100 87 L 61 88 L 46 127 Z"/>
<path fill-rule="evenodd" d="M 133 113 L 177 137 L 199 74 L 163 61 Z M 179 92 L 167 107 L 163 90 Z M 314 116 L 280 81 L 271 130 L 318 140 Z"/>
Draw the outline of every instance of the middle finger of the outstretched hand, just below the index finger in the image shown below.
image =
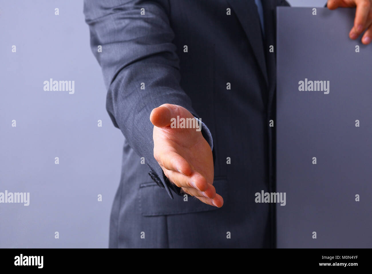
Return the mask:
<path fill-rule="evenodd" d="M 164 170 L 165 176 L 179 188 L 194 188 L 201 192 L 208 189 L 208 183 L 198 172 L 193 171 L 191 176 L 185 176 L 177 171 Z"/>

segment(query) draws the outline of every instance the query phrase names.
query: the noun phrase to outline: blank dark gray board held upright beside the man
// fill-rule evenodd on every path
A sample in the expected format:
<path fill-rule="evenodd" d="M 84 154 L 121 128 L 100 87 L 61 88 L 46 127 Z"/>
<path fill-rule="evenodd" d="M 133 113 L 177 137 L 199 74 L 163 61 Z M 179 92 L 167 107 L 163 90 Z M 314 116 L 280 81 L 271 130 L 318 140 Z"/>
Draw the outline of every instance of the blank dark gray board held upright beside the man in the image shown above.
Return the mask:
<path fill-rule="evenodd" d="M 372 248 L 372 44 L 316 12 L 277 8 L 277 246 Z"/>

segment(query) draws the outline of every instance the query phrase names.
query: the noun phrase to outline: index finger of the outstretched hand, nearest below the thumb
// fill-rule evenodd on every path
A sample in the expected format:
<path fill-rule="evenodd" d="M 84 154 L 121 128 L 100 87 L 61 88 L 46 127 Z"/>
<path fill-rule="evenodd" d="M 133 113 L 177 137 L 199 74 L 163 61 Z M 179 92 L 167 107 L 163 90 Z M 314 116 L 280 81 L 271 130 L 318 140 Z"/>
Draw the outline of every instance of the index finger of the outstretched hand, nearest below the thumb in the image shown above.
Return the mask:
<path fill-rule="evenodd" d="M 155 152 L 154 157 L 160 166 L 167 170 L 177 171 L 185 176 L 190 176 L 192 173 L 190 164 L 177 152 Z"/>

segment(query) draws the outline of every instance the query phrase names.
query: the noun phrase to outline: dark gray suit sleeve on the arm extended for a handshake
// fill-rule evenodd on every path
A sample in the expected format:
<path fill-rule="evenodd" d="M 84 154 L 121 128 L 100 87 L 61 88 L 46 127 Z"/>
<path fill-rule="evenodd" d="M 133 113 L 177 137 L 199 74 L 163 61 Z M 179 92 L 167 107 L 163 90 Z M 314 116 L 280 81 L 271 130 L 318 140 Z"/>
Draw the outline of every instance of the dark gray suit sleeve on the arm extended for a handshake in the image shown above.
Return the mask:
<path fill-rule="evenodd" d="M 170 188 L 177 188 L 154 158 L 150 113 L 169 103 L 198 115 L 179 85 L 179 59 L 168 12 L 167 0 L 84 1 L 91 48 L 108 89 L 109 116 L 134 151 L 145 157 L 153 180 L 173 199 Z"/>

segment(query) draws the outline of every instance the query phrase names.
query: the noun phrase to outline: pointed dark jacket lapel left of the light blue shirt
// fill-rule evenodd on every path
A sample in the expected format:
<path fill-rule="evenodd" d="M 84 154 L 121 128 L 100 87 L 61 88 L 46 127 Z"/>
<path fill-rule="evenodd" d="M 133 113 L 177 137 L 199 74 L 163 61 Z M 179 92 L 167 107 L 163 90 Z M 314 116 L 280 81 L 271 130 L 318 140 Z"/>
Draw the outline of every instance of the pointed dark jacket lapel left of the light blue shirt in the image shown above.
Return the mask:
<path fill-rule="evenodd" d="M 266 0 L 263 0 L 262 2 L 264 1 Z M 251 44 L 266 84 L 269 85 L 262 42 L 260 18 L 257 12 L 256 4 L 254 3 L 254 0 L 228 0 L 228 2 L 237 15 L 239 22 L 243 26 L 244 32 L 246 33 Z"/>

